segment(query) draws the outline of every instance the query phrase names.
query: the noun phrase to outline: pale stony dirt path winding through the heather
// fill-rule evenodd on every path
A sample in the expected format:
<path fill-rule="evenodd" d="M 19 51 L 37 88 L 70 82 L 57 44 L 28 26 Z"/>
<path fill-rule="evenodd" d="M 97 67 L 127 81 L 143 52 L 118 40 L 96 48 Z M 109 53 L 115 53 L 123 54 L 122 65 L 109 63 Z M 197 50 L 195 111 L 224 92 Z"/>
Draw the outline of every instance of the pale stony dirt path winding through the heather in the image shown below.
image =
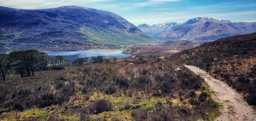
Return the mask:
<path fill-rule="evenodd" d="M 242 96 L 234 89 L 226 83 L 214 79 L 206 71 L 198 67 L 189 65 L 185 65 L 185 67 L 204 78 L 215 92 L 214 100 L 223 104 L 221 115 L 216 118 L 216 121 L 256 121 L 256 116 L 251 106 L 244 102 Z"/>

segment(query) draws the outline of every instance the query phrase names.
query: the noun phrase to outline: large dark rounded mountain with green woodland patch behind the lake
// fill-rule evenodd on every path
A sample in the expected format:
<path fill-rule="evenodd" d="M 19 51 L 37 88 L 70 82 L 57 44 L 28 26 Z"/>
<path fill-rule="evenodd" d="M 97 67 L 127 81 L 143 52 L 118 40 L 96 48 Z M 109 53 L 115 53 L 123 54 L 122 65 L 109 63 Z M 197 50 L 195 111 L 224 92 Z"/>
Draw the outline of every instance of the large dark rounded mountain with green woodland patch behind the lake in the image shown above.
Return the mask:
<path fill-rule="evenodd" d="M 8 50 L 46 51 L 155 42 L 121 16 L 78 6 L 34 10 L 0 6 L 0 40 Z"/>

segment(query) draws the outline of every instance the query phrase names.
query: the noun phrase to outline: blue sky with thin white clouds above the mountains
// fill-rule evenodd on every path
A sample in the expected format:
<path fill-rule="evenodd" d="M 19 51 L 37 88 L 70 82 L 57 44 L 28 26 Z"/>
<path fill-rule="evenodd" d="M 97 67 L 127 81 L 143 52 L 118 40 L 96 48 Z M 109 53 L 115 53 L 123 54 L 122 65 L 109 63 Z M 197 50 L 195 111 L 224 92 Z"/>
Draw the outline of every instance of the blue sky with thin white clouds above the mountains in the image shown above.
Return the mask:
<path fill-rule="evenodd" d="M 183 23 L 205 16 L 234 22 L 256 21 L 256 0 L 0 0 L 0 6 L 22 9 L 67 5 L 110 11 L 134 25 Z"/>

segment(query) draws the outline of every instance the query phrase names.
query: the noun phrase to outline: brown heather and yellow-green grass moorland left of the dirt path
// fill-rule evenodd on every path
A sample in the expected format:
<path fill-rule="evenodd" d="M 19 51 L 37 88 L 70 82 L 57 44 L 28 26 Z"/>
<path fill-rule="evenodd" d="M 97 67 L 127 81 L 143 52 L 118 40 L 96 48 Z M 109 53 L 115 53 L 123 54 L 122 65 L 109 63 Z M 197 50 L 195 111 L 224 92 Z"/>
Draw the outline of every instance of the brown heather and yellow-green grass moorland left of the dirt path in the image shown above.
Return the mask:
<path fill-rule="evenodd" d="M 207 83 L 181 63 L 155 57 L 133 64 L 102 59 L 86 63 L 80 58 L 84 63 L 77 66 L 62 64 L 62 58 L 59 64 L 48 61 L 47 67 L 65 69 L 1 80 L 0 119 L 193 121 L 219 115 Z M 182 71 L 175 71 L 177 66 Z"/>

